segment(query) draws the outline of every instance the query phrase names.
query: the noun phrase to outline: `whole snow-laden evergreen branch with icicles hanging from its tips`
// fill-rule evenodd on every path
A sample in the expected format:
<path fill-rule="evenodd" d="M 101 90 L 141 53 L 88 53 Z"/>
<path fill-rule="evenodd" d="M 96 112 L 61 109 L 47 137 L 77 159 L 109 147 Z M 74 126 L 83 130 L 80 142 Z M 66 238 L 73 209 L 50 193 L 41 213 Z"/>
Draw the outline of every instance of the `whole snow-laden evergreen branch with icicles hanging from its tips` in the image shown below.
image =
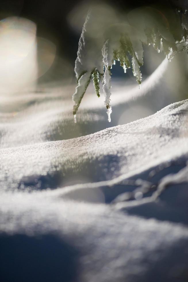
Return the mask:
<path fill-rule="evenodd" d="M 118 21 L 117 19 L 109 21 L 109 18 L 100 20 L 96 9 L 88 12 L 79 40 L 74 69 L 78 83 L 72 97 L 74 115 L 91 80 L 97 96 L 100 97 L 101 81 L 108 121 L 111 121 L 112 65 L 119 61 L 124 73 L 132 65 L 133 75 L 140 88 L 143 45 L 153 46 L 158 53 L 163 51 L 169 60 L 177 52 L 188 49 L 187 10 L 172 12 L 173 24 L 160 11 L 149 7 L 132 10 L 126 15 L 126 20 Z"/>

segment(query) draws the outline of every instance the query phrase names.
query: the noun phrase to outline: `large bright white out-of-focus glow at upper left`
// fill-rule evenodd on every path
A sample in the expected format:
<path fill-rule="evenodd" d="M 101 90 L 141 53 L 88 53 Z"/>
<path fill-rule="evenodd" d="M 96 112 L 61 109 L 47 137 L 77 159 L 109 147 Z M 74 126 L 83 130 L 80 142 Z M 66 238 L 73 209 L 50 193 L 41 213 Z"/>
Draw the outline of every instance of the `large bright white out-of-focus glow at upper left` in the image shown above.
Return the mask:
<path fill-rule="evenodd" d="M 36 25 L 25 18 L 0 21 L 0 91 L 13 93 L 37 78 Z"/>

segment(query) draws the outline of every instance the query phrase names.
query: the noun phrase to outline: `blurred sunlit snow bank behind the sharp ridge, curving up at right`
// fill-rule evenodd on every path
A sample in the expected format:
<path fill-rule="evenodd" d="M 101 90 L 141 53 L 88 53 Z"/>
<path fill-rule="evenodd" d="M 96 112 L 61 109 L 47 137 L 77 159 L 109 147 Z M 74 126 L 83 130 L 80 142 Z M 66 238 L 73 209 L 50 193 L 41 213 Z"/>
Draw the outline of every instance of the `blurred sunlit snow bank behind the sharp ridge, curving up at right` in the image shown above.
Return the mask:
<path fill-rule="evenodd" d="M 113 113 L 120 114 L 120 106 L 126 105 L 135 99 L 143 96 L 151 96 L 155 99 L 163 87 L 162 78 L 169 72 L 170 64 L 164 60 L 162 64 L 142 83 L 139 90 L 137 85 L 118 85 L 114 81 L 114 98 L 112 103 Z M 92 86 L 92 85 L 91 85 Z M 45 86 L 47 87 L 47 86 Z M 23 145 L 36 144 L 46 141 L 62 140 L 90 134 L 93 125 L 97 122 L 97 130 L 109 126 L 106 122 L 106 113 L 103 111 L 103 103 L 100 98 L 93 94 L 93 89 L 88 89 L 88 95 L 84 97 L 76 119 L 82 126 L 74 125 L 72 115 L 71 95 L 74 85 L 63 87 L 62 84 L 50 85 L 39 88 L 40 93 L 22 93 L 14 96 L 0 96 L 1 101 L 1 148 L 18 147 Z M 165 86 L 166 87 L 166 86 Z M 102 98 L 102 97 L 101 97 Z M 157 110 L 158 108 L 156 108 Z M 5 112 L 4 112 L 5 111 Z M 119 116 L 114 115 L 114 122 L 118 124 Z M 85 133 L 85 124 L 89 123 Z M 115 124 L 114 124 L 115 125 Z"/>

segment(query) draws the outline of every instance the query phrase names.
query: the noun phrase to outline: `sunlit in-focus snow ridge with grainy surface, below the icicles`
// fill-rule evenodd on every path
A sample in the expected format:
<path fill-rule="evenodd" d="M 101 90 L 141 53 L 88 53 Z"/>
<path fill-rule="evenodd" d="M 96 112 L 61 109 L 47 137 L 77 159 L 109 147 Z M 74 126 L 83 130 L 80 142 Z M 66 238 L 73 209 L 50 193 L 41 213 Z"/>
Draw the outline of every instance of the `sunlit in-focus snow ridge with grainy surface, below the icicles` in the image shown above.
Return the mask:
<path fill-rule="evenodd" d="M 115 176 L 122 179 L 177 158 L 187 153 L 187 117 L 179 117 L 177 111 L 186 112 L 187 102 L 172 104 L 153 116 L 88 136 L 2 149 L 2 187 L 15 189 L 26 176 L 33 180 L 34 176 L 40 178 L 49 173 L 53 178 L 54 172 L 66 175 L 79 171 L 83 177 L 102 181 Z M 109 168 L 111 158 L 112 167 Z M 100 159 L 103 169 L 95 165 Z M 17 162 L 19 165 L 14 166 Z"/>

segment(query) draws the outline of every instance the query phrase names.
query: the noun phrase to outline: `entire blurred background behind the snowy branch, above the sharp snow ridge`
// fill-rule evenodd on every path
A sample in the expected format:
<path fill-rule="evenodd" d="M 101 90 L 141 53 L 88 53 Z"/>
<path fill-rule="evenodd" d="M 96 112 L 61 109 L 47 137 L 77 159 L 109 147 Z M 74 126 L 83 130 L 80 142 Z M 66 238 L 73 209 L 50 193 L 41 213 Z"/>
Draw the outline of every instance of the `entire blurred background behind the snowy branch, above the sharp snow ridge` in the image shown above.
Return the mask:
<path fill-rule="evenodd" d="M 112 68 L 112 122 L 107 121 L 103 95 L 100 99 L 96 97 L 92 83 L 79 108 L 76 125 L 72 116 L 72 94 L 76 86 L 74 63 L 88 9 L 98 11 L 93 22 L 95 29 L 104 19 L 109 23 L 121 21 L 132 9 L 142 6 L 155 7 L 163 16 L 165 10 L 177 8 L 181 17 L 182 11 L 188 8 L 187 1 L 6 0 L 0 3 L 0 127 L 3 132 L 7 123 L 11 123 L 11 128 L 14 127 L 11 132 L 16 136 L 1 138 L 3 146 L 9 146 L 12 140 L 15 146 L 20 140 L 25 144 L 90 134 L 146 117 L 172 102 L 188 98 L 185 52 L 175 56 L 168 67 L 161 68 L 142 92 L 138 92 L 132 70 L 124 74 L 117 62 Z M 167 21 L 173 25 L 174 18 L 169 16 Z M 173 28 L 176 29 L 175 24 Z M 144 47 L 143 83 L 164 58 L 163 52 L 158 54 L 151 46 Z M 40 117 L 36 117 L 36 112 Z M 31 113 L 40 125 L 35 137 L 32 130 L 27 129 L 28 123 L 35 122 Z M 28 123 L 22 127 L 22 134 L 16 135 L 23 115 Z M 44 123 L 51 126 L 50 133 L 46 127 L 42 130 Z"/>

